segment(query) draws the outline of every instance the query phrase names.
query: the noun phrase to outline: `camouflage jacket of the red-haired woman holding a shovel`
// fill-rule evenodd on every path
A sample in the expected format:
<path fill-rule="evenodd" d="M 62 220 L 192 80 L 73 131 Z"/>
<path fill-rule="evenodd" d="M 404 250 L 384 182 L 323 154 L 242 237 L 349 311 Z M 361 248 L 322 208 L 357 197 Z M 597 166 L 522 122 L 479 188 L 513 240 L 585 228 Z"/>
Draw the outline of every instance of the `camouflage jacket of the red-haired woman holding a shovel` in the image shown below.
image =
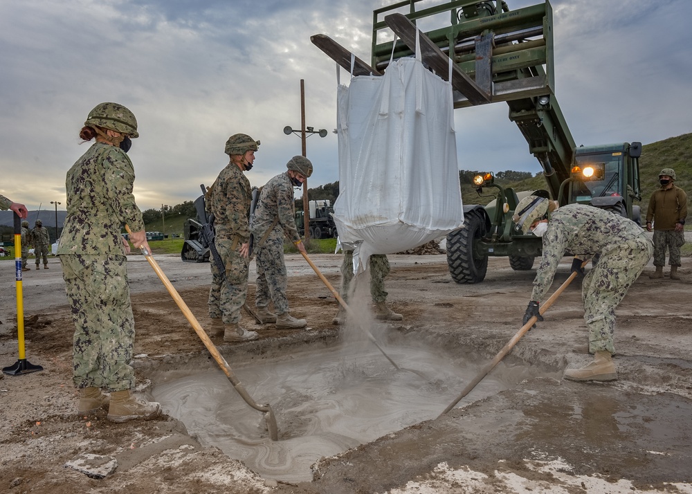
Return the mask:
<path fill-rule="evenodd" d="M 132 195 L 134 168 L 116 146 L 95 143 L 67 172 L 67 217 L 57 253 L 122 255 L 120 230 L 144 230 Z"/>

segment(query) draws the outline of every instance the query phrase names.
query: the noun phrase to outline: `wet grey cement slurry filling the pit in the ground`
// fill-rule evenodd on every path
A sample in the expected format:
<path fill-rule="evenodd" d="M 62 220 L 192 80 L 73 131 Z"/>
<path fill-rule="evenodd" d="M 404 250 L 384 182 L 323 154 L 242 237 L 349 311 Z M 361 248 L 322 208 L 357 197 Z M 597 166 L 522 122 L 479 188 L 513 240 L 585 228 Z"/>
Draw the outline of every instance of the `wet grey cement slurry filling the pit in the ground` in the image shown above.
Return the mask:
<path fill-rule="evenodd" d="M 385 351 L 430 379 L 397 371 L 372 345 L 303 351 L 280 363 L 234 369 L 257 403 L 271 404 L 279 441 L 268 439 L 264 414 L 250 408 L 220 370 L 165 381 L 153 394 L 204 446 L 217 446 L 266 478 L 311 481 L 310 466 L 321 457 L 437 417 L 480 369 L 430 350 Z M 536 369 L 500 363 L 459 405 L 516 385 L 523 372 Z"/>

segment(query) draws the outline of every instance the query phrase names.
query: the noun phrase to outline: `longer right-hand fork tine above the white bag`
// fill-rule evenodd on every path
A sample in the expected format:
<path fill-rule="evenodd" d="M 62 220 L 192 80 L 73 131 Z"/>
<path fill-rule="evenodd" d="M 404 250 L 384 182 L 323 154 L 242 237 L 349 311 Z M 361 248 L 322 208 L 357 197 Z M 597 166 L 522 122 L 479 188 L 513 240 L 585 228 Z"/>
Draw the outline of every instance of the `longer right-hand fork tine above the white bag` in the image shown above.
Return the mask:
<path fill-rule="evenodd" d="M 416 33 L 418 30 L 405 15 L 390 14 L 385 17 L 385 22 L 401 38 L 401 41 L 415 51 Z M 420 33 L 421 60 L 432 68 L 439 77 L 448 80 L 449 57 L 442 53 L 424 33 Z M 460 71 L 456 64 L 452 64 L 452 87 L 462 93 L 471 104 L 484 104 L 492 100 L 492 95 L 484 91 L 471 77 Z"/>

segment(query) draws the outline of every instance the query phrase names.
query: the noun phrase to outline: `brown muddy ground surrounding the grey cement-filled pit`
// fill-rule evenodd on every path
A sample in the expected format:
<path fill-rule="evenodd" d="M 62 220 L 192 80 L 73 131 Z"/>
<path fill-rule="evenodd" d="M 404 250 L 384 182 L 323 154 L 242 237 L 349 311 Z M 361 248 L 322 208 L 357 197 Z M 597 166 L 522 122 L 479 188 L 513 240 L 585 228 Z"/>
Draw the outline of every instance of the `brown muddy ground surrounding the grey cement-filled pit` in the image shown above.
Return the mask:
<path fill-rule="evenodd" d="M 338 286 L 340 256 L 311 258 Z M 156 259 L 206 326 L 208 264 Z M 232 366 L 341 338 L 331 324 L 337 305 L 329 291 L 302 257 L 286 260 L 291 307 L 307 318 L 309 330 L 276 331 L 246 319 L 260 332 L 259 341 L 214 340 Z M 145 259 L 129 261 L 140 390 L 146 393 L 167 372 L 215 367 Z M 459 285 L 450 280 L 444 255 L 392 255 L 390 262 L 390 304 L 404 320 L 373 323 L 381 345 L 419 342 L 439 358 L 464 360 L 478 372 L 518 331 L 535 273 L 512 271 L 507 259 L 497 258 L 484 282 Z M 589 360 L 573 351 L 587 340 L 576 280 L 545 322 L 493 371 L 511 375 L 522 369 L 516 372 L 527 378 L 516 387 L 323 458 L 313 481 L 297 484 L 263 479 L 200 444 L 170 417 L 124 424 L 108 422 L 105 412 L 78 417 L 71 383 L 73 326 L 60 264 L 51 258 L 50 269 L 38 272 L 30 264 L 22 283 L 26 358 L 44 370 L 0 381 L 0 491 L 692 493 L 692 260 L 683 264 L 680 281 L 650 280 L 648 266 L 617 310 L 618 381 L 559 378 L 566 367 Z M 570 259 L 564 259 L 553 289 L 567 279 L 569 267 Z M 253 292 L 251 285 L 250 300 Z M 0 262 L 0 304 L 0 364 L 6 367 L 18 358 L 13 262 Z M 533 372 L 526 374 L 527 368 Z M 439 411 L 448 404 L 441 400 Z M 281 411 L 275 412 L 282 439 L 289 431 L 281 430 Z M 95 456 L 84 459 L 86 454 Z M 100 470 L 94 468 L 99 462 Z M 98 477 L 109 470 L 104 478 L 84 473 Z"/>

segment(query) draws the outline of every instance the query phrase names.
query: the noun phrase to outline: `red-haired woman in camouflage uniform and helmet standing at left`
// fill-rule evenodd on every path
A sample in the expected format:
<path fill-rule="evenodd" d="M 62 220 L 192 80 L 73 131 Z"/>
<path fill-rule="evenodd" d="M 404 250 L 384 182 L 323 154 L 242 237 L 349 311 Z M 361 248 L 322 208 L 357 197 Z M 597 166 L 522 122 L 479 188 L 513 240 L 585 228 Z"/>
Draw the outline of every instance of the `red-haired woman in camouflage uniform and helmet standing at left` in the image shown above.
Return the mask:
<path fill-rule="evenodd" d="M 75 323 L 73 383 L 80 390 L 78 413 L 108 404 L 107 419 L 125 422 L 156 417 L 161 405 L 136 399 L 134 317 L 127 281 L 129 244 L 151 252 L 142 212 L 132 195 L 134 168 L 125 152 L 136 138 L 137 120 L 117 103 L 98 104 L 80 138 L 95 143 L 66 176 L 67 216 L 57 255 Z M 109 397 L 102 390 L 110 392 Z"/>

